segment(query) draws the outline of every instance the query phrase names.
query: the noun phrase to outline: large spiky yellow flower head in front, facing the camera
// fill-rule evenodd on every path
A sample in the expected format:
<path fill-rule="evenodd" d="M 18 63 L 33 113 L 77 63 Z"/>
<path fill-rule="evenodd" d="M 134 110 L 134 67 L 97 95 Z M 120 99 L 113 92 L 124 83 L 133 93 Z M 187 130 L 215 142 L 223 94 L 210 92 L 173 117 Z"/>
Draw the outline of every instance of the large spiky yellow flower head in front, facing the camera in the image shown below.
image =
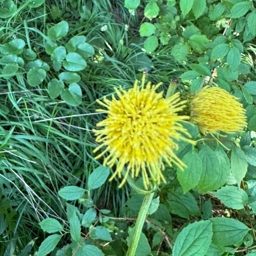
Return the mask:
<path fill-rule="evenodd" d="M 97 124 L 97 127 L 103 128 L 95 130 L 96 141 L 101 145 L 94 152 L 106 147 L 96 159 L 108 152 L 103 164 L 111 168 L 116 163 L 110 181 L 117 174 L 121 177 L 122 169 L 126 168 L 119 187 L 125 183 L 129 173 L 133 178 L 141 173 L 145 188 L 148 188 L 149 177 L 158 184 L 161 180 L 165 182 L 161 172 L 163 160 L 170 166 L 172 163 L 179 168 L 185 166 L 174 153 L 178 145 L 173 139 L 190 141 L 183 137 L 190 135 L 178 122 L 189 117 L 176 114 L 184 108 L 186 101 L 180 101 L 178 93 L 168 99 L 163 98 L 162 92 L 155 92 L 161 84 L 151 86 L 148 82 L 145 86 L 144 75 L 141 88 L 136 80 L 134 87 L 128 91 L 115 88 L 118 99 L 112 95 L 111 101 L 106 97 L 104 103 L 98 101 L 107 108 L 98 111 L 107 112 L 107 117 Z"/>

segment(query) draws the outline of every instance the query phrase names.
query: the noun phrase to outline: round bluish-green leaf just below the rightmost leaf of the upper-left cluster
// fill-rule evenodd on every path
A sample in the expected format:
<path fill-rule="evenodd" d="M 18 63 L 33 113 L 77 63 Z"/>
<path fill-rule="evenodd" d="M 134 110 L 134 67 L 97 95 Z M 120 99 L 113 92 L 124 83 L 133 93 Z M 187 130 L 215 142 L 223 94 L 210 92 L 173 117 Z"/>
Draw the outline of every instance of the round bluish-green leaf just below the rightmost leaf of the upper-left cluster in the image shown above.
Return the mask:
<path fill-rule="evenodd" d="M 86 61 L 80 54 L 69 53 L 66 56 L 66 61 L 63 61 L 63 67 L 68 71 L 80 71 L 87 66 Z"/>

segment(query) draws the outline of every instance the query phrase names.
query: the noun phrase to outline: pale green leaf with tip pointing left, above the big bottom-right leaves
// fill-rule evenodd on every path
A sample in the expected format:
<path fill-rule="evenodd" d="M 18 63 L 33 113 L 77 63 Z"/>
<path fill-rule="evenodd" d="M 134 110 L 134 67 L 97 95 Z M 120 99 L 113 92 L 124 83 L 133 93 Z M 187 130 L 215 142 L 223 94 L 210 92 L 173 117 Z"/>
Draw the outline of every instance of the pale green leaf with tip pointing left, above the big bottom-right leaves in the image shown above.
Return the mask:
<path fill-rule="evenodd" d="M 243 209 L 248 202 L 248 195 L 243 189 L 235 186 L 225 186 L 216 192 L 210 192 L 217 196 L 227 207 L 233 209 Z"/>

